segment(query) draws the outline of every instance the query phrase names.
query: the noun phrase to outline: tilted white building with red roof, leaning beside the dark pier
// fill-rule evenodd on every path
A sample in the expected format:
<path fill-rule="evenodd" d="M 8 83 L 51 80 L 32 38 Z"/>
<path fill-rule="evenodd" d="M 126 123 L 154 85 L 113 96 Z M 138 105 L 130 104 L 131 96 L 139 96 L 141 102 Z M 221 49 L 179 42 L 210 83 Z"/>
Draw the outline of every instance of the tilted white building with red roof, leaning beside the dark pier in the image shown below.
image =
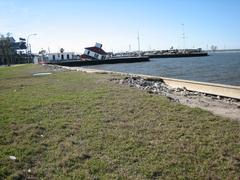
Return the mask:
<path fill-rule="evenodd" d="M 96 43 L 96 45 L 93 47 L 85 48 L 82 56 L 84 56 L 86 59 L 89 57 L 89 59 L 105 60 L 108 58 L 108 53 L 102 49 L 102 44 Z"/>

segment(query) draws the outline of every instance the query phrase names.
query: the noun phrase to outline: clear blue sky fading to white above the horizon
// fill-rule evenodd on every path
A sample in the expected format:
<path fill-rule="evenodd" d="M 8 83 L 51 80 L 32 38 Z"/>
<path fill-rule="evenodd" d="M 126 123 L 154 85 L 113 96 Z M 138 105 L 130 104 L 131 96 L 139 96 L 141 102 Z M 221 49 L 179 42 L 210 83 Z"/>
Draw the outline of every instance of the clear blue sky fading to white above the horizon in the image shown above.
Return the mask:
<path fill-rule="evenodd" d="M 0 33 L 29 37 L 35 53 L 83 53 L 96 42 L 134 51 L 138 33 L 141 50 L 240 48 L 239 0 L 0 0 L 0 7 Z"/>

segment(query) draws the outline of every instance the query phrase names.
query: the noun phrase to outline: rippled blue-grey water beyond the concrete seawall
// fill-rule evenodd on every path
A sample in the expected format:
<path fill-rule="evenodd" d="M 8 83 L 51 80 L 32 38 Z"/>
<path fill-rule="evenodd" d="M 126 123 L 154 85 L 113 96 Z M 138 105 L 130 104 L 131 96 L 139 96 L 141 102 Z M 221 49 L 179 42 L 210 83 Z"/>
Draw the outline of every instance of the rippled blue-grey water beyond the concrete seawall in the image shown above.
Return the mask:
<path fill-rule="evenodd" d="M 150 62 L 88 68 L 240 86 L 240 52 L 212 53 L 193 58 L 158 58 Z"/>

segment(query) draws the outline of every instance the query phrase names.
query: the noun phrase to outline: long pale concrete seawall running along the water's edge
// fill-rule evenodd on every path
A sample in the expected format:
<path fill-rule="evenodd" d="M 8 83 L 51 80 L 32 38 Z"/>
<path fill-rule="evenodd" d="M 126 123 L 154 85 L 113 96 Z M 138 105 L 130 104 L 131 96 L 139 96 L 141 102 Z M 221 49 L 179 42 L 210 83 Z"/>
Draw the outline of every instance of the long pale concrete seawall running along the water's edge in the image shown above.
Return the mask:
<path fill-rule="evenodd" d="M 159 76 L 149 76 L 142 74 L 131 74 L 131 73 L 122 73 L 122 72 L 114 72 L 114 71 L 105 71 L 105 70 L 97 70 L 97 69 L 87 69 L 82 67 L 64 67 L 65 69 L 81 71 L 86 73 L 101 73 L 101 74 L 117 74 L 122 76 L 140 76 L 147 80 L 160 80 L 166 83 L 167 85 L 173 88 L 183 88 L 185 87 L 189 91 L 197 91 L 206 94 L 212 94 L 216 96 L 224 96 L 229 98 L 234 98 L 240 100 L 240 86 L 230 86 L 223 84 L 215 84 L 215 83 L 205 83 L 198 81 L 189 81 L 189 80 L 180 80 Z"/>

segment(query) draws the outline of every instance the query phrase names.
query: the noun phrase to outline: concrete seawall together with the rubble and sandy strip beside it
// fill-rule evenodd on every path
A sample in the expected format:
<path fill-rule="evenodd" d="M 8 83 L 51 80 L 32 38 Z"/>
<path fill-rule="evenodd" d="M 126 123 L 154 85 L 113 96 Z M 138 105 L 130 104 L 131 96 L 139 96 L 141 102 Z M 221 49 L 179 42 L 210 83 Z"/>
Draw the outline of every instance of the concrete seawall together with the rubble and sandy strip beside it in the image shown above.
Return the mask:
<path fill-rule="evenodd" d="M 228 86 L 213 83 L 203 83 L 196 81 L 179 80 L 165 77 L 148 76 L 140 74 L 122 73 L 105 71 L 98 69 L 86 69 L 83 67 L 63 67 L 45 65 L 51 71 L 80 71 L 86 73 L 100 73 L 100 74 L 112 74 L 120 75 L 123 78 L 139 79 L 142 82 L 148 84 L 149 81 L 161 83 L 164 88 L 144 87 L 141 88 L 141 84 L 129 83 L 134 81 L 128 81 L 129 86 L 135 86 L 140 89 L 145 89 L 155 94 L 165 95 L 168 98 L 188 105 L 190 107 L 199 107 L 208 111 L 211 111 L 217 115 L 229 117 L 232 119 L 240 120 L 240 87 Z M 120 81 L 120 79 L 119 79 Z M 125 82 L 125 81 L 120 81 Z M 143 84 L 144 84 L 143 83 Z M 150 83 L 150 84 L 151 84 Z M 154 86 L 154 85 L 153 85 Z M 167 89 L 167 91 L 166 91 Z M 165 90 L 165 91 L 164 91 Z"/>

